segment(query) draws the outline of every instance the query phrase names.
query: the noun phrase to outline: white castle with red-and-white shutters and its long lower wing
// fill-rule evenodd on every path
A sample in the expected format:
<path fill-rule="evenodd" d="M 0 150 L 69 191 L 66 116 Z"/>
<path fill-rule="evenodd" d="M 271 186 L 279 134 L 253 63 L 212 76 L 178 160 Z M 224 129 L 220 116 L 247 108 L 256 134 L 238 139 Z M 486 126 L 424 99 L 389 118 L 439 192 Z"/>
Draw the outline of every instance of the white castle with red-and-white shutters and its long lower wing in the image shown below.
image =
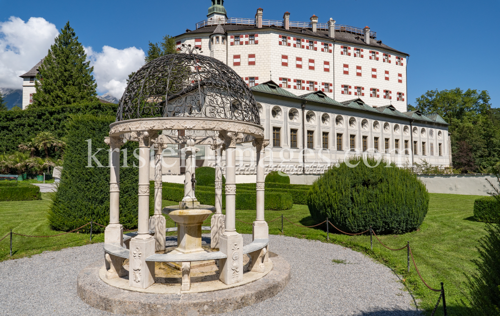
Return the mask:
<path fill-rule="evenodd" d="M 439 115 L 407 111 L 409 54 L 368 26 L 227 17 L 211 0 L 207 19 L 175 37 L 229 65 L 259 103 L 270 140 L 266 172 L 319 174 L 352 155 L 378 153 L 397 166 L 451 164 L 448 124 Z M 254 174 L 251 145 L 240 145 L 239 175 Z M 203 150 L 199 165 L 214 165 Z M 173 171 L 173 170 L 172 170 Z M 175 173 L 175 172 L 173 172 Z"/>

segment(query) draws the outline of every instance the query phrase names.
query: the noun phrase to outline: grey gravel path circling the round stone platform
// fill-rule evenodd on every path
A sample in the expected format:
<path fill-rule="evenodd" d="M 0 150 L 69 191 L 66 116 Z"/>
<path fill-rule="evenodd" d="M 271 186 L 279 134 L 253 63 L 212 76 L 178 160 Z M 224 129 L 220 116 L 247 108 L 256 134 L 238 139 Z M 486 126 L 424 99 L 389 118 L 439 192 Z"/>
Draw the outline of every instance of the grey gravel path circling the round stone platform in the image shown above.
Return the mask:
<path fill-rule="evenodd" d="M 244 244 L 250 235 L 243 235 Z M 419 316 L 410 295 L 387 267 L 338 245 L 270 236 L 269 250 L 292 267 L 275 297 L 221 316 Z M 80 301 L 76 277 L 102 256 L 102 244 L 46 252 L 0 263 L 0 315 L 110 316 Z M 345 264 L 333 264 L 332 259 Z"/>

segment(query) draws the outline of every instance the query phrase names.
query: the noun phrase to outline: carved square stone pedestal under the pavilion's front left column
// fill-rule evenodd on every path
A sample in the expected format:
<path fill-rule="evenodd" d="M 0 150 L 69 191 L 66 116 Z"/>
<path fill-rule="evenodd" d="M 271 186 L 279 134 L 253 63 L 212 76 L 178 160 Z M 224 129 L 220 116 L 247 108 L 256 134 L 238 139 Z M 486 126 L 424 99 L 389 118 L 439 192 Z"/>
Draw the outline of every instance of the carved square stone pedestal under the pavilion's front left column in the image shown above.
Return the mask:
<path fill-rule="evenodd" d="M 146 258 L 154 255 L 154 238 L 130 240 L 129 280 L 132 288 L 146 289 L 154 284 L 154 262 Z"/>

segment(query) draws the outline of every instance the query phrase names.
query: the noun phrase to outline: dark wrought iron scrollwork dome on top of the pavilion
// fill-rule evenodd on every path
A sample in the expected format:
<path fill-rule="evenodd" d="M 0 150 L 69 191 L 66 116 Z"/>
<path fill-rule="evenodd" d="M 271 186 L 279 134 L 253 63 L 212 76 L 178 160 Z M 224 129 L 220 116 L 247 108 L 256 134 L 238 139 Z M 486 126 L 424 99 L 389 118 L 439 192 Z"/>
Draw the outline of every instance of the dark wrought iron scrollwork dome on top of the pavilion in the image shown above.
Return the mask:
<path fill-rule="evenodd" d="M 158 57 L 132 76 L 116 122 L 156 117 L 219 118 L 254 123 L 260 118 L 246 83 L 221 61 L 182 45 L 184 52 Z"/>

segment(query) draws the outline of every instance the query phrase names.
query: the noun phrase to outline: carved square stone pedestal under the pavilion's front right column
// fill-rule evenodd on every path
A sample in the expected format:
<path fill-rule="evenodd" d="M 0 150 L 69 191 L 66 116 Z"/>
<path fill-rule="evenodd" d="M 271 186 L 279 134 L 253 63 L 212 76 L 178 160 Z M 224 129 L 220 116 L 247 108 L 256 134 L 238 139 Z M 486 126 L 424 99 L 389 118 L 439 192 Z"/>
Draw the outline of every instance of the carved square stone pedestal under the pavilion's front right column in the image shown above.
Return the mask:
<path fill-rule="evenodd" d="M 219 250 L 227 255 L 219 260 L 219 280 L 224 284 L 243 281 L 243 237 L 220 235 Z"/>

